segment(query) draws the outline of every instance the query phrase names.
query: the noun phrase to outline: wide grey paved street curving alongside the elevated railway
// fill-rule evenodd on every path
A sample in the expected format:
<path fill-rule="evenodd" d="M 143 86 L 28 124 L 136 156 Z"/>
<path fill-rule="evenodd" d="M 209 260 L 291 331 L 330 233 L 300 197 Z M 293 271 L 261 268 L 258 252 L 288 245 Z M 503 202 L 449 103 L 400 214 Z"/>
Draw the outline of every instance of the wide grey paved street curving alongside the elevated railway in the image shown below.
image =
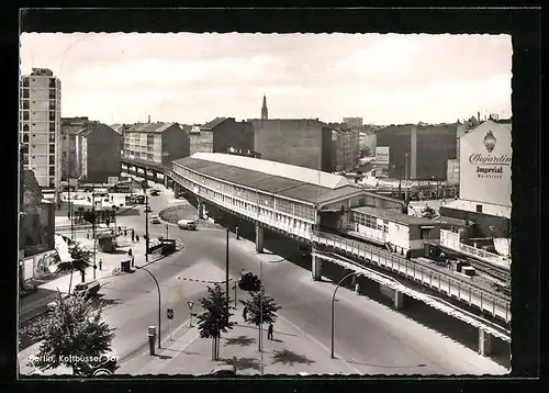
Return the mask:
<path fill-rule="evenodd" d="M 163 207 L 173 205 L 169 202 L 173 202 L 170 193 L 150 198 L 153 214 L 158 214 Z M 139 211 L 143 211 L 143 207 L 139 207 Z M 121 216 L 119 224 L 135 227 L 139 236 L 145 232 L 143 214 Z M 152 234 L 166 233 L 164 224 L 150 225 L 149 228 Z M 188 325 L 188 301 L 194 302 L 193 312 L 200 312 L 198 303 L 205 293 L 206 283 L 182 279 L 217 282 L 224 280 L 225 276 L 224 231 L 186 232 L 170 225 L 168 232 L 169 236 L 177 236 L 183 242 L 184 249 L 147 267 L 161 287 L 163 339 L 167 339 L 169 335 L 166 318 L 167 307 L 175 310 L 175 319 L 170 326 L 172 332 L 182 324 Z M 242 269 L 259 273 L 259 259 L 255 254 L 254 244 L 245 239 L 236 240 L 234 234 L 229 235 L 229 244 L 231 277 L 237 277 Z M 138 251 L 135 255 L 136 263 L 142 263 L 143 257 L 138 256 Z M 274 330 L 298 332 L 295 334 L 307 343 L 302 348 L 315 346 L 309 355 L 313 361 L 317 364 L 329 361 L 329 315 L 333 284 L 327 279 L 325 282 L 312 282 L 310 271 L 284 261 L 276 255 L 269 255 L 268 251 L 261 255 L 261 258 L 264 260 L 262 281 L 266 291 L 282 306 L 280 315 L 283 323 L 281 322 L 280 327 L 276 325 Z M 146 364 L 148 360 L 139 361 L 136 359 L 139 357 L 150 358 L 148 355 L 143 355 L 148 351 L 147 326 L 158 325 L 158 297 L 153 279 L 143 270 L 108 278 L 103 281 L 101 293 L 105 304 L 108 304 L 105 319 L 117 328 L 113 352 L 119 356 L 119 361 L 122 364 L 121 370 L 132 373 L 148 370 Z M 238 292 L 238 297 L 242 295 Z M 188 328 L 179 328 L 176 334 L 186 335 L 186 329 Z M 210 348 L 209 343 L 198 344 L 200 340 L 191 340 L 192 334 L 190 335 L 183 338 L 183 341 L 192 341 L 186 349 L 187 351 L 202 353 L 204 348 L 201 346 Z M 337 295 L 335 343 L 336 357 L 345 359 L 346 366 L 340 369 L 329 366 L 329 370 L 334 370 L 330 372 L 366 374 L 501 374 L 507 372 L 503 367 L 448 337 L 415 323 L 385 305 L 363 296 L 357 296 L 344 288 L 338 291 Z M 280 350 L 283 349 L 282 347 Z M 274 350 L 276 348 L 268 349 Z M 292 348 L 287 349 L 292 350 Z M 181 348 L 177 350 L 179 351 Z M 251 356 L 248 355 L 249 350 L 243 349 L 240 357 Z M 224 351 L 225 347 L 222 348 L 222 357 Z M 305 350 L 295 349 L 295 351 Z M 237 352 L 234 353 L 234 356 L 238 356 Z M 163 372 L 164 370 L 164 372 L 171 373 L 181 370 L 180 372 L 184 373 L 184 370 L 191 370 L 194 367 L 191 363 L 197 362 L 198 364 L 198 360 L 193 360 L 197 356 L 160 357 L 155 359 L 156 366 L 152 364 L 150 368 L 155 370 L 154 372 Z M 209 349 L 205 349 L 205 356 L 210 356 Z M 161 366 L 163 362 L 166 366 Z M 132 367 L 131 364 L 137 366 Z M 212 366 L 209 361 L 203 364 L 206 369 Z M 311 368 L 314 369 L 314 363 Z M 251 369 L 248 371 L 257 371 L 257 369 Z M 209 370 L 197 371 L 195 368 L 192 370 L 209 372 Z M 269 370 L 278 372 L 277 368 L 267 368 L 266 372 Z M 295 372 L 298 371 L 302 370 L 295 369 Z"/>

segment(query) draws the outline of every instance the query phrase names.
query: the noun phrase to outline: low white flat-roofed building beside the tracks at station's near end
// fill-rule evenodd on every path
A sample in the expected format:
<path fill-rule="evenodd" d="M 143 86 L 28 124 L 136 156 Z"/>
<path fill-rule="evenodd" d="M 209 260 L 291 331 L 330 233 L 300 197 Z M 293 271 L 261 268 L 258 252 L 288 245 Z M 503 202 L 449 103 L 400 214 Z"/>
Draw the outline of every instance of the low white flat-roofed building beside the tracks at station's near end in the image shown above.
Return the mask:
<path fill-rule="evenodd" d="M 408 257 L 423 256 L 426 243 L 440 239 L 436 221 L 372 206 L 352 209 L 346 232 Z"/>

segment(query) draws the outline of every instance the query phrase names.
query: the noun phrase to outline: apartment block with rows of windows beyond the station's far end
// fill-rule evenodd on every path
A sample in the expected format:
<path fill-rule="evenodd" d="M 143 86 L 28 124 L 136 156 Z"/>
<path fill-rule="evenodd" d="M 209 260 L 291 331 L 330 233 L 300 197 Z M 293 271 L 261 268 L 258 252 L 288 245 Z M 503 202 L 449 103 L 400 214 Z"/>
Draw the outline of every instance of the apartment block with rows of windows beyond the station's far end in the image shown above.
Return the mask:
<path fill-rule="evenodd" d="M 123 132 L 123 157 L 164 167 L 190 154 L 189 134 L 177 123 L 137 123 Z"/>

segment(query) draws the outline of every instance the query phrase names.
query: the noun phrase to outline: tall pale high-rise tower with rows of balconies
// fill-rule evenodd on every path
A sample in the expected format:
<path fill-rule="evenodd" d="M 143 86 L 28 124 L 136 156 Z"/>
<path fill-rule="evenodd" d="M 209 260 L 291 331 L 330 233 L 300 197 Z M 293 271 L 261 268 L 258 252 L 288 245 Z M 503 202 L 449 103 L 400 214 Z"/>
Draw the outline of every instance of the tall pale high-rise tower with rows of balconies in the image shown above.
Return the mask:
<path fill-rule="evenodd" d="M 57 194 L 61 179 L 61 82 L 47 68 L 33 68 L 20 81 L 20 143 L 23 169 L 31 169 L 45 194 Z"/>

